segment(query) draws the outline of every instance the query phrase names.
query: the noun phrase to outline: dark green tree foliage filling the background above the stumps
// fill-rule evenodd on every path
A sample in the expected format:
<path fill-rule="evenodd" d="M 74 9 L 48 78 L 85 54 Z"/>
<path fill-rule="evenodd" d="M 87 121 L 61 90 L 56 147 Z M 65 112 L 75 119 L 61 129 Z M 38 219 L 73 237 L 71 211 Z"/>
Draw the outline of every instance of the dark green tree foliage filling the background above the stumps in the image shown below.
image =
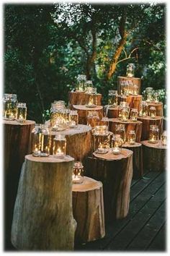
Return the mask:
<path fill-rule="evenodd" d="M 120 18 L 126 13 L 128 38 L 125 53 L 138 48 L 130 59 L 107 72 L 121 38 Z M 28 106 L 28 118 L 48 119 L 50 103 L 68 101 L 76 76 L 86 74 L 97 36 L 91 80 L 107 103 L 108 90 L 117 88 L 117 76 L 134 62 L 135 77 L 143 90 L 165 87 L 165 6 L 161 4 L 6 4 L 4 6 L 5 93 L 17 93 Z M 119 59 L 119 60 L 120 60 Z"/>

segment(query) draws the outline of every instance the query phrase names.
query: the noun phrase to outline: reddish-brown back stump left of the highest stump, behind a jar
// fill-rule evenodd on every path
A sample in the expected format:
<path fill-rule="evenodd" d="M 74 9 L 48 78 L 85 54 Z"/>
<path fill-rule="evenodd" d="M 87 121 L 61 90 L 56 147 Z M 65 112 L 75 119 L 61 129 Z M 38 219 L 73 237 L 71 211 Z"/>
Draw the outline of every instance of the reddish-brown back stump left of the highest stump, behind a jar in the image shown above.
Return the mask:
<path fill-rule="evenodd" d="M 71 108 L 73 105 L 85 105 L 86 100 L 89 98 L 89 94 L 83 92 L 69 92 L 68 101 Z M 97 105 L 102 105 L 102 94 L 97 93 Z"/>

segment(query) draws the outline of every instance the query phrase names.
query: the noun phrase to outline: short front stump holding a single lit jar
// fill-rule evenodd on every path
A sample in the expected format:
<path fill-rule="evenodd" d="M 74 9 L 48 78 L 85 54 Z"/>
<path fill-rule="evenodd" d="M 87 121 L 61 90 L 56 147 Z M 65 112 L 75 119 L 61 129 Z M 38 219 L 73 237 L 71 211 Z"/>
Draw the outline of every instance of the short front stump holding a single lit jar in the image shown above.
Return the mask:
<path fill-rule="evenodd" d="M 72 191 L 76 242 L 101 239 L 105 236 L 102 182 L 84 176 L 83 184 L 73 184 Z"/>

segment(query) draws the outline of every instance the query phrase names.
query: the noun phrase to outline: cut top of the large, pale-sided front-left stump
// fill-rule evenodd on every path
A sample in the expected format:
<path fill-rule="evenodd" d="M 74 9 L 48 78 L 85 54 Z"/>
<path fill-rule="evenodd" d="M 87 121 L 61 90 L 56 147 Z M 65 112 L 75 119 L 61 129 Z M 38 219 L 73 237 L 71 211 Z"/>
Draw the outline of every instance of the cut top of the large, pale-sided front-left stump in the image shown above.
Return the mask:
<path fill-rule="evenodd" d="M 71 158 L 70 155 L 66 155 L 65 158 L 63 159 L 55 158 L 53 155 L 49 155 L 48 157 L 25 155 L 25 159 L 32 162 L 39 162 L 39 163 L 64 163 L 64 162 L 74 161 L 74 158 Z"/>

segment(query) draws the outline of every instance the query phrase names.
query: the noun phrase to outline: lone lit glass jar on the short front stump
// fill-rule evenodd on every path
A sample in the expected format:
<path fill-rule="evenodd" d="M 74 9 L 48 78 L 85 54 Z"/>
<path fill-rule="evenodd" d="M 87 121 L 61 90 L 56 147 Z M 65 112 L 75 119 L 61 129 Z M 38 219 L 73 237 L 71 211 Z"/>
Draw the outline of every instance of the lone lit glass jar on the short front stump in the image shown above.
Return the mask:
<path fill-rule="evenodd" d="M 76 161 L 73 165 L 73 184 L 81 184 L 84 182 L 84 166 L 81 162 Z"/>

